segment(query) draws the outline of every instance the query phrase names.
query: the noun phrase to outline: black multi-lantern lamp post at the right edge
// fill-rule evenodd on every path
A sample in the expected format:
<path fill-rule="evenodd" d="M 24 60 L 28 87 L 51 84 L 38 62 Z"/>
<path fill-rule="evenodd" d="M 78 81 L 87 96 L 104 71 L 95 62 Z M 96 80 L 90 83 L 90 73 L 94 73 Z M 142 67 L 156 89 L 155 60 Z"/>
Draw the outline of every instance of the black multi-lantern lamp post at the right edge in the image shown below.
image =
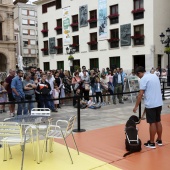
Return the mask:
<path fill-rule="evenodd" d="M 165 48 L 169 48 L 170 45 L 170 28 L 166 30 L 166 37 L 164 33 L 162 32 L 160 35 L 161 43 L 165 44 Z M 166 51 L 165 51 L 166 52 Z M 166 52 L 168 54 L 168 74 L 167 74 L 167 86 L 170 86 L 170 51 Z"/>

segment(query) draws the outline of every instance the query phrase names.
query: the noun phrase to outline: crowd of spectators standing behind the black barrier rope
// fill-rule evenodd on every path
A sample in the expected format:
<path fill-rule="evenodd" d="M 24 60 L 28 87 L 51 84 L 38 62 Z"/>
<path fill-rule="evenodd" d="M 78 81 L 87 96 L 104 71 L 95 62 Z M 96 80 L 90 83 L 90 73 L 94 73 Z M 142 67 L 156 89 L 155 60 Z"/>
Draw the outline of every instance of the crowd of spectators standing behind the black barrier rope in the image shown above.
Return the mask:
<path fill-rule="evenodd" d="M 158 75 L 157 69 L 154 74 Z M 130 75 L 135 75 L 133 70 Z M 117 98 L 120 104 L 124 104 L 121 93 L 125 81 L 123 68 L 103 68 L 100 72 L 98 69 L 87 70 L 82 66 L 81 71 L 76 70 L 73 75 L 62 69 L 42 72 L 30 68 L 26 73 L 22 70 L 10 70 L 6 80 L 0 84 L 0 102 L 28 101 L 18 103 L 17 115 L 21 115 L 29 114 L 34 107 L 50 108 L 52 112 L 57 112 L 61 105 L 70 100 L 62 98 L 80 96 L 81 108 L 95 109 L 106 104 L 117 104 Z M 90 91 L 94 96 L 92 98 L 89 98 Z M 116 96 L 115 93 L 120 94 Z M 106 96 L 107 94 L 110 95 Z M 73 98 L 74 107 L 77 107 L 77 101 L 77 98 Z M 15 116 L 15 104 L 9 104 L 9 111 L 10 115 Z M 0 113 L 3 112 L 5 105 L 0 105 Z"/>

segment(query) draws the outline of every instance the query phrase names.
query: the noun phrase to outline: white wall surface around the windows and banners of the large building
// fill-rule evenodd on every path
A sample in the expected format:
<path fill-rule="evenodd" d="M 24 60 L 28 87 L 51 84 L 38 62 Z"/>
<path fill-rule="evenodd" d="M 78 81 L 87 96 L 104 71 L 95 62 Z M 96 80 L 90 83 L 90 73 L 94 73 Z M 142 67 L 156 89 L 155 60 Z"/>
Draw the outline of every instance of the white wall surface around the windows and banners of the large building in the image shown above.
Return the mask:
<path fill-rule="evenodd" d="M 79 28 L 78 32 L 72 32 L 71 36 L 79 35 L 80 42 L 80 52 L 74 54 L 74 59 L 80 59 L 80 66 L 85 65 L 87 68 L 90 67 L 89 60 L 91 58 L 99 58 L 99 69 L 109 67 L 109 57 L 120 56 L 120 66 L 124 70 L 131 70 L 134 68 L 133 56 L 134 55 L 145 55 L 145 67 L 146 70 L 150 70 L 151 67 L 155 66 L 155 55 L 158 53 L 155 49 L 160 48 L 160 44 L 155 43 L 154 36 L 157 36 L 155 33 L 155 28 L 157 25 L 154 25 L 155 21 L 155 12 L 159 11 L 159 0 L 156 0 L 157 4 L 155 5 L 155 0 L 144 0 L 144 18 L 139 20 L 133 19 L 133 1 L 120 1 L 120 0 L 108 0 L 108 10 L 107 15 L 110 13 L 110 6 L 114 4 L 119 4 L 119 23 L 110 25 L 108 19 L 108 39 L 110 38 L 110 29 L 119 28 L 120 34 L 120 25 L 131 23 L 131 35 L 133 35 L 134 30 L 133 26 L 144 24 L 144 35 L 145 35 L 145 44 L 143 46 L 133 46 L 133 41 L 131 46 L 119 47 L 116 49 L 109 49 L 109 44 L 107 40 L 98 41 L 98 51 L 89 52 L 89 46 L 87 42 L 90 40 L 90 33 L 98 32 L 97 28 L 90 29 L 89 26 Z M 40 1 L 39 1 L 40 2 Z M 48 3 L 50 1 L 42 1 L 43 3 Z M 165 0 L 165 6 L 168 4 L 168 0 Z M 44 3 L 44 4 L 45 4 Z M 160 2 L 161 3 L 161 2 Z M 97 9 L 98 12 L 98 0 L 74 0 L 74 1 L 62 1 L 62 8 L 70 6 L 70 14 L 75 15 L 79 14 L 79 6 L 88 5 L 88 11 Z M 161 12 L 159 12 L 161 13 Z M 70 17 L 71 17 L 70 16 Z M 161 15 L 162 16 L 162 15 Z M 68 64 L 68 55 L 66 54 L 65 48 L 63 47 L 63 55 L 50 54 L 49 56 L 43 56 L 41 48 L 43 48 L 43 41 L 49 40 L 51 37 L 63 38 L 62 35 L 57 35 L 54 28 L 56 27 L 56 19 L 62 18 L 62 9 L 56 10 L 55 6 L 48 8 L 48 12 L 42 14 L 42 4 L 38 5 L 38 37 L 39 37 L 39 58 L 40 58 L 40 68 L 43 69 L 44 62 L 50 62 L 50 69 L 57 68 L 57 61 L 64 61 L 64 69 L 69 69 Z M 88 13 L 89 18 L 89 13 Z M 48 22 L 48 37 L 43 38 L 41 30 L 43 29 L 42 23 Z M 71 29 L 71 28 L 70 28 Z M 72 29 L 71 29 L 72 30 Z M 158 34 L 159 35 L 159 34 Z M 120 37 L 120 35 L 119 35 Z M 160 52 L 159 52 L 160 53 Z M 159 54 L 158 53 L 158 54 Z"/>

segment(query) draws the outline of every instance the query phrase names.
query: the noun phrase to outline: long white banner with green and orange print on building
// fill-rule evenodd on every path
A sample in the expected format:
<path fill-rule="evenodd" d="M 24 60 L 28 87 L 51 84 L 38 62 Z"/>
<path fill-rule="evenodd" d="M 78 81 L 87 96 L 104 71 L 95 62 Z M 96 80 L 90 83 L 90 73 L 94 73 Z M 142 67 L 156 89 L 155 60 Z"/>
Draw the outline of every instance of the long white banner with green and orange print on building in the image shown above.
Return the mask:
<path fill-rule="evenodd" d="M 70 7 L 63 8 L 63 45 L 71 44 Z"/>

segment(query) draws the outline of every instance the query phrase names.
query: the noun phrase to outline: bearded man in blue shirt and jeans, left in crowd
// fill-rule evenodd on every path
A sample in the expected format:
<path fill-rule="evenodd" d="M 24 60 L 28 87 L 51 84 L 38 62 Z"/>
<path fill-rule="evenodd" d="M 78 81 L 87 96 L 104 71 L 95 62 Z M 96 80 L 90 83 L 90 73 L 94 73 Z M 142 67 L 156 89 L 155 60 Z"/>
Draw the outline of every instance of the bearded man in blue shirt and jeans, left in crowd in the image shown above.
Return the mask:
<path fill-rule="evenodd" d="M 18 70 L 17 76 L 13 78 L 11 82 L 12 94 L 16 102 L 21 102 L 24 101 L 25 99 L 21 77 L 23 77 L 23 71 Z M 18 103 L 17 115 L 22 115 L 22 110 L 24 110 L 24 105 L 25 105 L 24 103 Z M 27 113 L 24 112 L 24 114 Z"/>

